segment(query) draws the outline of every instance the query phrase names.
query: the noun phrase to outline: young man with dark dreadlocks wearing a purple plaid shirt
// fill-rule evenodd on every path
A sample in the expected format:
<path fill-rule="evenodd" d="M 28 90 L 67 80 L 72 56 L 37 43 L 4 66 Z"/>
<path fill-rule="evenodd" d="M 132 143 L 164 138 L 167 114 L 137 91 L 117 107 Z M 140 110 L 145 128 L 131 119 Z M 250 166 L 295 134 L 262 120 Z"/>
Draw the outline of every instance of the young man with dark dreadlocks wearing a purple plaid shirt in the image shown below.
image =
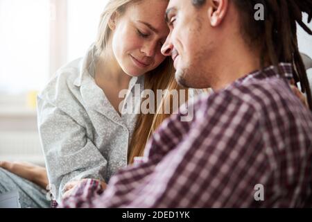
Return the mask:
<path fill-rule="evenodd" d="M 300 80 L 311 108 L 295 21 L 312 15 L 312 1 L 261 2 L 264 21 L 257 1 L 170 1 L 162 52 L 180 85 L 215 93 L 193 105 L 193 121 L 165 121 L 146 162 L 103 194 L 85 180 L 62 207 L 311 207 L 312 115 L 287 78 Z"/>

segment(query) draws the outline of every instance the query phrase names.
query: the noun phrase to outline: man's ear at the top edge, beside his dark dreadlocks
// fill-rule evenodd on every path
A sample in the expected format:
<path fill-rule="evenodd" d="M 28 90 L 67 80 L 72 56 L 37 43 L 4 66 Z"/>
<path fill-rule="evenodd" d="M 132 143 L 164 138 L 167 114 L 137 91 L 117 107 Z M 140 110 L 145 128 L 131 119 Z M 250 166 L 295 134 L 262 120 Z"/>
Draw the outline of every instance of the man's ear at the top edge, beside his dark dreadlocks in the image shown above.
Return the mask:
<path fill-rule="evenodd" d="M 228 0 L 210 0 L 208 7 L 208 17 L 210 25 L 216 27 L 223 22 L 229 5 Z"/>

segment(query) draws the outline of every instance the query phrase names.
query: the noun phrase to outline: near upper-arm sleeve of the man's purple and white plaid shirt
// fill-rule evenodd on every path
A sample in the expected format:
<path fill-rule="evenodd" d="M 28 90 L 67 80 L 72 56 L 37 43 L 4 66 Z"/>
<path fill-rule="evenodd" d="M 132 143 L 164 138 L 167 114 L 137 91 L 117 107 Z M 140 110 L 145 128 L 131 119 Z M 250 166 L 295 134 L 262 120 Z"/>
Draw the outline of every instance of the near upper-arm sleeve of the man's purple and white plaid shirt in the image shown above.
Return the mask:
<path fill-rule="evenodd" d="M 154 183 L 163 187 L 146 191 L 155 198 L 145 206 L 257 206 L 254 188 L 268 185 L 271 173 L 255 111 L 230 93 L 211 96 L 188 135 L 157 166 Z"/>

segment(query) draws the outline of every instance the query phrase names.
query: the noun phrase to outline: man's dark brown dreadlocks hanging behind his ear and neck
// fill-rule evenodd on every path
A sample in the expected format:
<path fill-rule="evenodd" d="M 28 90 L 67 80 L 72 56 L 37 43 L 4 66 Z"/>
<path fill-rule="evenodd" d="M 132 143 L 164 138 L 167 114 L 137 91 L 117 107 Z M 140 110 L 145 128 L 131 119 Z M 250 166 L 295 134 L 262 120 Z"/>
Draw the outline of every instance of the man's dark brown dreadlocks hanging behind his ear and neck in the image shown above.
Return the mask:
<path fill-rule="evenodd" d="M 196 7 L 206 0 L 191 0 Z M 312 110 L 311 89 L 306 69 L 300 56 L 297 42 L 297 24 L 306 33 L 312 31 L 302 22 L 302 12 L 306 12 L 308 23 L 312 19 L 312 0 L 232 0 L 241 17 L 241 32 L 250 45 L 258 46 L 261 51 L 262 68 L 269 63 L 278 67 L 279 62 L 293 65 L 295 83 L 300 82 L 302 92 L 307 95 Z M 261 3 L 265 10 L 264 21 L 254 19 L 254 6 Z M 281 73 L 281 72 L 280 72 Z"/>

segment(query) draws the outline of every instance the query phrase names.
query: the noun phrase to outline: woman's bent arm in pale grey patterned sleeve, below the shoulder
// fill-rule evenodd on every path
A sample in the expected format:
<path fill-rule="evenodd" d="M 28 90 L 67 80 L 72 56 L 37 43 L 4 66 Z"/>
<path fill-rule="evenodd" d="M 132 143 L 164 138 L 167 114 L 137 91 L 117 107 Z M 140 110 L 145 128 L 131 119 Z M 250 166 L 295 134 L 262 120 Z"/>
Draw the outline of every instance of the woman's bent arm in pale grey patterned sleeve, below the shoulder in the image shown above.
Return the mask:
<path fill-rule="evenodd" d="M 94 178 L 105 181 L 107 161 L 86 129 L 69 114 L 38 97 L 38 126 L 51 193 L 60 202 L 68 182 Z"/>

